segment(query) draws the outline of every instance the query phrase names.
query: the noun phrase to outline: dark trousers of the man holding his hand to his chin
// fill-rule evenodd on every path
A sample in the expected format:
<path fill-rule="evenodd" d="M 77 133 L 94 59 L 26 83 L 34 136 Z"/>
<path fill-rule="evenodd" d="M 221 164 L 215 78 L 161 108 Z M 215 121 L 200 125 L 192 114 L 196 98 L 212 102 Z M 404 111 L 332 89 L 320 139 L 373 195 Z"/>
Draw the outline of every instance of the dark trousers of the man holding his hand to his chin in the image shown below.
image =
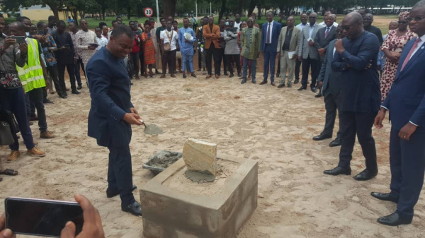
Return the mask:
<path fill-rule="evenodd" d="M 372 136 L 372 126 L 376 114 L 378 112 L 340 112 L 341 150 L 339 150 L 339 167 L 350 167 L 357 134 L 358 143 L 360 143 L 363 156 L 366 159 L 366 169 L 372 172 L 378 170 L 375 140 Z"/>

